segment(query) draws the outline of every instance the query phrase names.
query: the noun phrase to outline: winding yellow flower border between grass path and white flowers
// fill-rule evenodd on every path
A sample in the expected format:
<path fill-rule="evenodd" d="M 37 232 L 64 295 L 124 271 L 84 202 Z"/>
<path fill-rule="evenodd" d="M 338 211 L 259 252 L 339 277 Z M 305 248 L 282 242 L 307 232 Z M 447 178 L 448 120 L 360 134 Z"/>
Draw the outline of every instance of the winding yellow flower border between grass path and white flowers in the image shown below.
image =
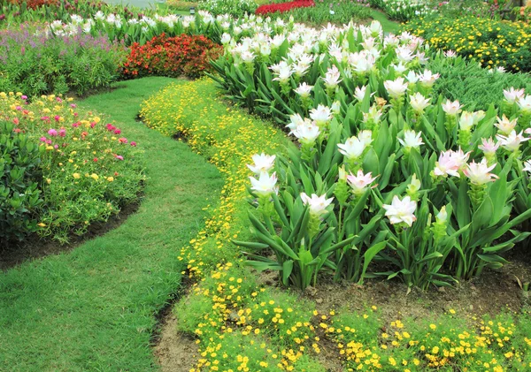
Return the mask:
<path fill-rule="evenodd" d="M 249 230 L 245 164 L 255 153 L 277 153 L 287 139 L 227 107 L 208 80 L 166 87 L 144 102 L 141 116 L 166 135 L 185 137 L 225 175 L 219 204 L 209 207 L 204 230 L 178 257 L 188 264 L 183 274 L 196 281 L 175 308 L 180 329 L 199 345 L 190 372 L 324 372 L 327 363 L 348 371 L 531 368 L 531 342 L 510 317 L 466 324 L 450 310 L 437 323 L 386 323 L 376 307 L 359 315 L 317 311 L 312 301 L 261 285 L 231 239 Z"/>

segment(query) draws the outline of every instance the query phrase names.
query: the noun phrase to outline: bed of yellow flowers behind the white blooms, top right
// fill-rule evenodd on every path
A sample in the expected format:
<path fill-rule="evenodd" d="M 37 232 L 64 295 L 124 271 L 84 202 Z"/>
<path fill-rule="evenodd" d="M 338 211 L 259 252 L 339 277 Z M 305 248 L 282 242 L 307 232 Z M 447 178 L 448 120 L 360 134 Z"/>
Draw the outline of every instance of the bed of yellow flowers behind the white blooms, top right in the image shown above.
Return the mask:
<path fill-rule="evenodd" d="M 413 19 L 404 29 L 425 38 L 432 47 L 455 50 L 489 69 L 531 71 L 531 27 L 523 22 L 436 16 Z"/>

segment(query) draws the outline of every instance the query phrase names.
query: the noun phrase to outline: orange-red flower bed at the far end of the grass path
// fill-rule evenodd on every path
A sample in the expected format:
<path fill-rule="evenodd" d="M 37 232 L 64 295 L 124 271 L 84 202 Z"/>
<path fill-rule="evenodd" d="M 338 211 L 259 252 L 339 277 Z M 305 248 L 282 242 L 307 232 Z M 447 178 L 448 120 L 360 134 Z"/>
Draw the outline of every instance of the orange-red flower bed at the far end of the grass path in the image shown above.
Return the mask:
<path fill-rule="evenodd" d="M 223 47 L 203 35 L 160 34 L 142 46 L 137 42 L 131 45 L 131 53 L 121 70 L 131 78 L 147 75 L 197 78 L 210 72 L 210 60 L 222 53 Z"/>

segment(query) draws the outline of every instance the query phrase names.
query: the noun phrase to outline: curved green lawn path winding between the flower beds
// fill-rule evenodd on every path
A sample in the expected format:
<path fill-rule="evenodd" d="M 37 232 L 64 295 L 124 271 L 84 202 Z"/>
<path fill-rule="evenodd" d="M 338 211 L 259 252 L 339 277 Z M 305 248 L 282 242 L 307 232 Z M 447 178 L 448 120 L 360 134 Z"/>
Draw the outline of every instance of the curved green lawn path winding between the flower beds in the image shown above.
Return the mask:
<path fill-rule="evenodd" d="M 103 237 L 0 273 L 0 371 L 158 370 L 154 315 L 178 290 L 176 256 L 222 186 L 216 168 L 186 144 L 135 122 L 142 100 L 171 81 L 131 80 L 80 102 L 111 115 L 145 149 L 145 197 Z"/>

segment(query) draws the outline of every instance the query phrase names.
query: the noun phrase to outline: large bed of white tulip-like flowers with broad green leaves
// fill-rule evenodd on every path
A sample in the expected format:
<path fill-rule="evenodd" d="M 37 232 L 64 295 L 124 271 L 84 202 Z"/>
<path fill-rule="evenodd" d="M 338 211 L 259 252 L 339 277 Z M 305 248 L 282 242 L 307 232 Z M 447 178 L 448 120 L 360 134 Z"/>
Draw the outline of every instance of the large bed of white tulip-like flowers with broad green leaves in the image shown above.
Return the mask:
<path fill-rule="evenodd" d="M 220 83 L 289 118 L 300 145 L 250 165 L 258 243 L 237 244 L 273 249 L 274 259 L 251 255 L 259 269 L 304 288 L 322 270 L 361 282 L 378 260 L 394 269 L 372 275 L 426 289 L 499 268 L 529 235 L 515 230 L 531 216 L 523 90 L 487 111 L 434 97 L 423 41 L 384 37 L 376 22 L 287 25 L 225 45 Z"/>

